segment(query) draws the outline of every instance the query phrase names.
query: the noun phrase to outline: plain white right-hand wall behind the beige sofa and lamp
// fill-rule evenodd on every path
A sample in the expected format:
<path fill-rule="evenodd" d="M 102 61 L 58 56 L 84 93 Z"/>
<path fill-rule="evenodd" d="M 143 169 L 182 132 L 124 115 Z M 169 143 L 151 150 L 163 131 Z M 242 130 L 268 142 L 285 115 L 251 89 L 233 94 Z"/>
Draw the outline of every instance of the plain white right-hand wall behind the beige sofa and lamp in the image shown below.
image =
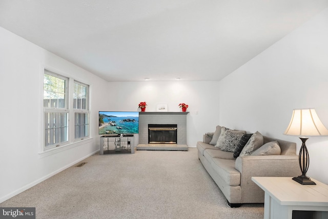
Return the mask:
<path fill-rule="evenodd" d="M 297 143 L 282 133 L 294 108 L 315 108 L 328 127 L 328 8 L 220 81 L 220 124 L 259 131 Z M 308 176 L 328 184 L 328 137 L 310 137 Z M 301 173 L 301 172 L 300 172 Z"/>

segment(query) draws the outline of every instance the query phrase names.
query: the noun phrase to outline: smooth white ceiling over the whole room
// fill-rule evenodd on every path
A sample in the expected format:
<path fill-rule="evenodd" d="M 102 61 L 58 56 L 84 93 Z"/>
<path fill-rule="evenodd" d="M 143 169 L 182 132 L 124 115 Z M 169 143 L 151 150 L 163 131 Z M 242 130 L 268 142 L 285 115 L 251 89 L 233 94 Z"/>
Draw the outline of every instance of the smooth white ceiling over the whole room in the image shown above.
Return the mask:
<path fill-rule="evenodd" d="M 0 26 L 107 81 L 219 81 L 328 0 L 0 0 Z"/>

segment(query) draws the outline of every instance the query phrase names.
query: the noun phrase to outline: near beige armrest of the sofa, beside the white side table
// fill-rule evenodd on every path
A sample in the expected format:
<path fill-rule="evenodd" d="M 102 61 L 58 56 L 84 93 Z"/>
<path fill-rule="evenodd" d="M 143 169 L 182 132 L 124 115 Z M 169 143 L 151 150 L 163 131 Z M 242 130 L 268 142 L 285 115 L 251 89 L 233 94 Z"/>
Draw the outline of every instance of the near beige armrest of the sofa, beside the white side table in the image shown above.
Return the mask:
<path fill-rule="evenodd" d="M 264 202 L 264 192 L 252 176 L 294 177 L 301 174 L 298 155 L 262 155 L 237 157 L 235 168 L 240 172 L 243 203 Z"/>

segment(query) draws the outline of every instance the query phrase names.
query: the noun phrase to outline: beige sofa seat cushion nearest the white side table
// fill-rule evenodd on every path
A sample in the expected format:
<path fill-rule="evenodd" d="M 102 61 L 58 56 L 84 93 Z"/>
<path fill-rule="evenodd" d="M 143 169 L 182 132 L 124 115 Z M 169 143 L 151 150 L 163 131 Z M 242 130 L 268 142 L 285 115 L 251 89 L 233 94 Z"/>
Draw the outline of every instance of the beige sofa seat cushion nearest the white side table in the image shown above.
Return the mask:
<path fill-rule="evenodd" d="M 240 172 L 235 169 L 235 160 L 213 158 L 211 166 L 227 185 L 240 185 Z"/>

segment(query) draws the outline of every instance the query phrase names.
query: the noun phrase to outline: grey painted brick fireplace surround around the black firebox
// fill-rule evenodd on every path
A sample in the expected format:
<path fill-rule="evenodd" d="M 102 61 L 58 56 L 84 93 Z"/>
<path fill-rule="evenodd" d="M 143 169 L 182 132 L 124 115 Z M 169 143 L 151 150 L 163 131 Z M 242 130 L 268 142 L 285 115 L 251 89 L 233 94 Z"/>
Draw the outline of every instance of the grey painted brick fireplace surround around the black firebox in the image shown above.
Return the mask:
<path fill-rule="evenodd" d="M 187 146 L 187 114 L 188 112 L 140 112 L 139 113 L 139 145 L 149 145 L 149 124 L 175 124 L 176 129 L 176 144 Z M 170 147 L 170 144 L 166 144 Z M 172 145 L 171 145 L 172 147 Z M 187 149 L 188 150 L 188 149 Z"/>

